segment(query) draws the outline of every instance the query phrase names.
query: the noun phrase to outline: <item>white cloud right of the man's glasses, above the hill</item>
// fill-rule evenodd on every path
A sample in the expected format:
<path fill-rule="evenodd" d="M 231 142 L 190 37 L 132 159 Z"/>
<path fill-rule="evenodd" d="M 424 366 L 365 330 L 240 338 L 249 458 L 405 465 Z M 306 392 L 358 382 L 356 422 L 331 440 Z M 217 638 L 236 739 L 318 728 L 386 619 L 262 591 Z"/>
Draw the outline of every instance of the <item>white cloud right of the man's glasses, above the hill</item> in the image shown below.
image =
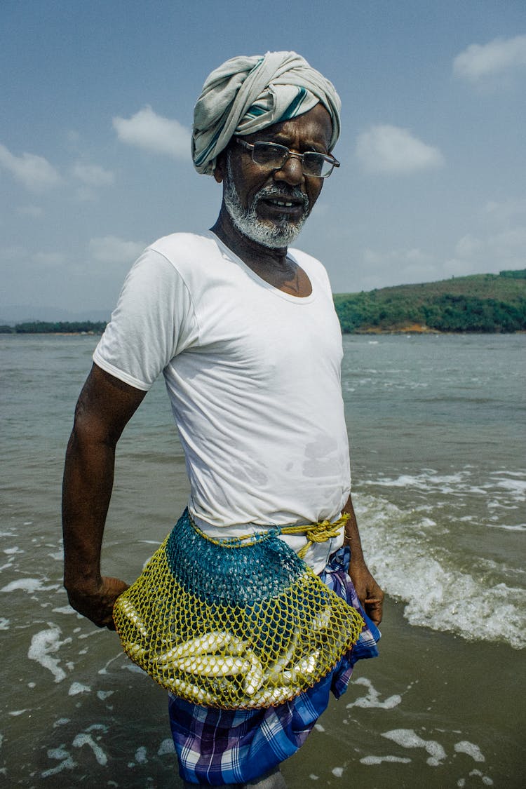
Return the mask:
<path fill-rule="evenodd" d="M 444 162 L 438 148 L 423 143 L 408 129 L 375 125 L 356 140 L 356 156 L 371 173 L 412 173 Z"/>

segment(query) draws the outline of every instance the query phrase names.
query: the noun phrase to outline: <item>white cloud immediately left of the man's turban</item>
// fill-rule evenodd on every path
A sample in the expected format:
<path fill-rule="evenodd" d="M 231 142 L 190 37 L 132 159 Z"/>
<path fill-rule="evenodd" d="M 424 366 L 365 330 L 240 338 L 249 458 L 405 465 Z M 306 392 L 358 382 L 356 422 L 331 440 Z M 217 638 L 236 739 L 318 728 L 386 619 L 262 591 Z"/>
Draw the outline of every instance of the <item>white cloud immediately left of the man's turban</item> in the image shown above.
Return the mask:
<path fill-rule="evenodd" d="M 188 129 L 178 121 L 156 114 L 151 107 L 144 107 L 128 119 L 116 117 L 113 125 L 119 140 L 124 143 L 175 159 L 189 158 Z"/>

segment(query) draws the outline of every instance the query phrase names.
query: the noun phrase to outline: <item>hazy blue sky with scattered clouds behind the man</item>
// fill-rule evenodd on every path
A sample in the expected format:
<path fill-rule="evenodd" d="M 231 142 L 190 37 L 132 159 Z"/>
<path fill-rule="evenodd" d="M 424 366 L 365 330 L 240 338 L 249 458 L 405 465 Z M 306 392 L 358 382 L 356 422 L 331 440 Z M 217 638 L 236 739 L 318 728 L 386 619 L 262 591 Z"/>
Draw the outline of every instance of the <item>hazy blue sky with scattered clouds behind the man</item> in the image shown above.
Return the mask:
<path fill-rule="evenodd" d="M 295 242 L 335 293 L 526 266 L 524 0 L 2 0 L 0 322 L 107 320 L 145 246 L 214 224 L 193 107 L 267 50 L 341 95 Z"/>

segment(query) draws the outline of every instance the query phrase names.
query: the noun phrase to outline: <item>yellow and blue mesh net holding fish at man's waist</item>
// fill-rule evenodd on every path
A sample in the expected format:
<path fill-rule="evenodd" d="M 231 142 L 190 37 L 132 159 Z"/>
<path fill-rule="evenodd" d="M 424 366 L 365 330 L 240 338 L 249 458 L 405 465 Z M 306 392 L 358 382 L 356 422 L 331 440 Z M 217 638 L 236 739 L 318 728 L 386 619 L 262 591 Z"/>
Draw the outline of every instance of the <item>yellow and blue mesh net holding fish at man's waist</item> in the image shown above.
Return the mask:
<path fill-rule="evenodd" d="M 187 512 L 118 598 L 114 621 L 125 653 L 156 682 L 222 709 L 297 696 L 364 626 L 275 533 L 211 541 Z"/>

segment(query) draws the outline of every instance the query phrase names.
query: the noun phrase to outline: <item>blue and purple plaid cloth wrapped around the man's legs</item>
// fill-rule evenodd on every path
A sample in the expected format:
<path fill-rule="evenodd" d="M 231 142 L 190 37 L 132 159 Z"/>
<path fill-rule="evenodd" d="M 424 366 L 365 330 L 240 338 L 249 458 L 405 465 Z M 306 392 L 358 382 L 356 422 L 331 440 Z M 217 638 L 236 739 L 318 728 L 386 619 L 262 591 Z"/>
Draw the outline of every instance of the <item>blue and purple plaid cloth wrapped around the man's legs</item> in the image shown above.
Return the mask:
<path fill-rule="evenodd" d="M 356 660 L 378 655 L 380 633 L 360 606 L 349 578 L 347 546 L 330 556 L 319 574 L 338 596 L 365 619 L 360 638 L 330 674 L 285 704 L 267 709 L 212 709 L 170 694 L 170 726 L 179 774 L 188 783 L 221 786 L 246 783 L 296 753 L 329 703 L 330 691 L 345 693 Z"/>

